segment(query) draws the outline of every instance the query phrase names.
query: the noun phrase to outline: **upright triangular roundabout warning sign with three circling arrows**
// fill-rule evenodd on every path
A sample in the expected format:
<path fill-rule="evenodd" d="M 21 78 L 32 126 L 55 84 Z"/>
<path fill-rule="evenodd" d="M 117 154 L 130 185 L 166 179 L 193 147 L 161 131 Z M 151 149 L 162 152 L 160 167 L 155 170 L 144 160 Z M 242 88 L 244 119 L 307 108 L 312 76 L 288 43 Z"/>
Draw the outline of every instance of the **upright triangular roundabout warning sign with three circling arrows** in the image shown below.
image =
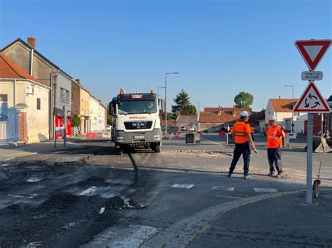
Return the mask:
<path fill-rule="evenodd" d="M 331 110 L 314 82 L 310 82 L 296 102 L 293 112 L 331 112 Z"/>

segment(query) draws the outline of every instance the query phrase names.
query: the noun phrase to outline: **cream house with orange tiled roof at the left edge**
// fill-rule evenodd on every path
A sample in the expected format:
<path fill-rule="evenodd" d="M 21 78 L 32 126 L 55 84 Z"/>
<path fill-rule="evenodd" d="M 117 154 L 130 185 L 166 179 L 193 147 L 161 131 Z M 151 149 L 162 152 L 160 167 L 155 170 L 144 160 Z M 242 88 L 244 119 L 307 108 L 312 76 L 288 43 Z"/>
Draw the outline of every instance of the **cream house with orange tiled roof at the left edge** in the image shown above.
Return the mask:
<path fill-rule="evenodd" d="M 0 53 L 0 141 L 48 140 L 50 87 Z"/>

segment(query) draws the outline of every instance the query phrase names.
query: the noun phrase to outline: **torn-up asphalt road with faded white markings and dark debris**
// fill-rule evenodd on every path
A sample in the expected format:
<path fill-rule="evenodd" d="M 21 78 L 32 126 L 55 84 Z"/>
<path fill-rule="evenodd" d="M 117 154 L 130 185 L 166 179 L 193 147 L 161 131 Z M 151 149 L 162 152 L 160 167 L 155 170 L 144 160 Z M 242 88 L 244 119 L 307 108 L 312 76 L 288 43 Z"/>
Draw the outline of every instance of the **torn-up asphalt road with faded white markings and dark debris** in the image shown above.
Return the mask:
<path fill-rule="evenodd" d="M 284 149 L 280 179 L 266 176 L 263 137 L 256 140 L 251 180 L 242 178 L 241 163 L 235 178 L 226 176 L 233 148 L 216 134 L 199 145 L 165 140 L 160 154 L 117 155 L 107 140 L 81 140 L 75 149 L 6 161 L 0 247 L 202 245 L 198 233 L 220 212 L 305 189 L 303 140 Z M 314 154 L 314 163 L 321 159 L 331 161 L 331 154 Z M 330 188 L 331 166 L 322 175 Z"/>

